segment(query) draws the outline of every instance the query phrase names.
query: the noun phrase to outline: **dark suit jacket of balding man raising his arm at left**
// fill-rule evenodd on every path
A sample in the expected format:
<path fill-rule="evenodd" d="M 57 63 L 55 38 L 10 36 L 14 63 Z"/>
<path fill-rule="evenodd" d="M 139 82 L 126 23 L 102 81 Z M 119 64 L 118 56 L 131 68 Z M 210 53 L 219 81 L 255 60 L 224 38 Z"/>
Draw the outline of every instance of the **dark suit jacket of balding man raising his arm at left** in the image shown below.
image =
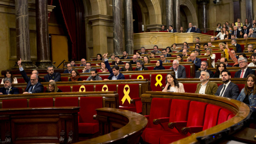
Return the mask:
<path fill-rule="evenodd" d="M 30 82 L 30 78 L 27 76 L 25 70 L 20 71 L 23 79 L 25 80 L 25 82 L 27 83 L 27 87 L 25 92 L 28 92 L 31 82 Z M 35 85 L 34 90 L 31 91 L 31 93 L 42 93 L 44 92 L 44 86 L 38 81 L 38 83 Z"/>

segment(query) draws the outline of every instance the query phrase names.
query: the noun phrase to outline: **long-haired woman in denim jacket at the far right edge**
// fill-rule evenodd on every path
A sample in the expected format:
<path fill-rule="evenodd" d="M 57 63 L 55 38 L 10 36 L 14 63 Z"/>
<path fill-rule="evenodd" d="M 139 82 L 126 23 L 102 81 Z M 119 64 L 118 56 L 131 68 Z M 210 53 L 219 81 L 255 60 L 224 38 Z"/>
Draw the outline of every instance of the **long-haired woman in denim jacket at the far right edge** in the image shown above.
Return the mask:
<path fill-rule="evenodd" d="M 256 107 L 256 76 L 249 75 L 246 78 L 244 89 L 238 95 L 236 100 L 244 102 L 249 107 Z"/>

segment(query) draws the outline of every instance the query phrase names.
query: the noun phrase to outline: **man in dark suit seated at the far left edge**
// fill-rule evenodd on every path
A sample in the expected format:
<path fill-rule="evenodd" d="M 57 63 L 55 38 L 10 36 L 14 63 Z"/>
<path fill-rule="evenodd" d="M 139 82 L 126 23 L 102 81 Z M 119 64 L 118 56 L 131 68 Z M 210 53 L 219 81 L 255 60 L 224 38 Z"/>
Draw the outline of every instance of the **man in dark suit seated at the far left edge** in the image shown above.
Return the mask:
<path fill-rule="evenodd" d="M 12 79 L 5 77 L 3 79 L 4 87 L 0 87 L 0 94 L 19 94 L 17 87 L 12 87 Z"/>

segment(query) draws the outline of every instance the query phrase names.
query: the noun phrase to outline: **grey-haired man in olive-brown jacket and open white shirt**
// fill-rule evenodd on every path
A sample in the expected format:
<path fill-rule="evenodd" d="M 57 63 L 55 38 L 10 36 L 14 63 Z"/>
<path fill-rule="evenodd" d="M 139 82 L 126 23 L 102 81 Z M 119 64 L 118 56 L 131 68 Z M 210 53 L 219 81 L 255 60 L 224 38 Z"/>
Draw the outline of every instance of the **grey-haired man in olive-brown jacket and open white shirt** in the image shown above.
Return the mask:
<path fill-rule="evenodd" d="M 217 92 L 218 85 L 210 82 L 209 78 L 210 74 L 207 71 L 201 71 L 200 81 L 202 83 L 197 84 L 195 93 L 214 95 Z"/>

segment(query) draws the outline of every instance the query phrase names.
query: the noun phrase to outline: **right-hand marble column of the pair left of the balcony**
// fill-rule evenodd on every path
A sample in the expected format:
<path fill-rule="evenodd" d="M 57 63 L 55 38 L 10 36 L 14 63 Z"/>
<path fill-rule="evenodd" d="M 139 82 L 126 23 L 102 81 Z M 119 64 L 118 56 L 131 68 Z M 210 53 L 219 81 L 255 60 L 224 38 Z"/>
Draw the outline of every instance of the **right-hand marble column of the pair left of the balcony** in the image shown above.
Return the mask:
<path fill-rule="evenodd" d="M 132 19 L 132 0 L 124 1 L 124 42 L 125 51 L 133 53 L 133 19 Z"/>

